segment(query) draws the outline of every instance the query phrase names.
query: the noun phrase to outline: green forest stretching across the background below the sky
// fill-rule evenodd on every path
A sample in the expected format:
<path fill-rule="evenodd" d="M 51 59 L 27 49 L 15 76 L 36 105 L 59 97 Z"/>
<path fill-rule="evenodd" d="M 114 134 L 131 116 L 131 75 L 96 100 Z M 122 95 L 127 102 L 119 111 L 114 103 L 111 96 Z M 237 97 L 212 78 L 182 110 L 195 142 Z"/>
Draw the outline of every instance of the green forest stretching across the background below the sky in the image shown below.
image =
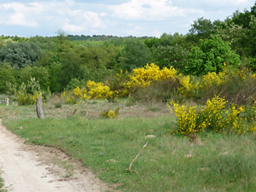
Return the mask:
<path fill-rule="evenodd" d="M 256 3 L 226 20 L 195 20 L 189 32 L 160 38 L 107 35 L 0 37 L 0 92 L 6 82 L 20 85 L 31 78 L 41 90 L 61 92 L 88 80 L 113 82 L 120 72 L 154 63 L 185 75 L 219 73 L 230 67 L 256 71 Z"/>

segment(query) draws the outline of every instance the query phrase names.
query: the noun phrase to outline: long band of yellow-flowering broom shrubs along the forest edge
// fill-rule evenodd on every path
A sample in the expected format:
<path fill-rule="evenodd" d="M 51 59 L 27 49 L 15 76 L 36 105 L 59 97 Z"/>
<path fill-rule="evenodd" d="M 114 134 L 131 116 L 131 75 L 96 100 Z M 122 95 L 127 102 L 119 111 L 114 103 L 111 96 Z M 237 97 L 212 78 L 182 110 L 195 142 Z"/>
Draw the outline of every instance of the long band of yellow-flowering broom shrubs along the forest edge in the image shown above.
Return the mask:
<path fill-rule="evenodd" d="M 206 102 L 213 96 L 224 96 L 236 104 L 246 104 L 256 97 L 255 74 L 247 68 L 234 69 L 223 65 L 220 73 L 209 72 L 201 77 L 183 75 L 173 67 L 160 69 L 154 63 L 133 69 L 131 75 L 117 73 L 108 85 L 87 81 L 84 88 L 64 91 L 62 96 L 68 103 L 82 99 L 104 99 L 113 101 L 116 97 L 132 96 L 134 100 L 170 101 L 178 96 Z"/>

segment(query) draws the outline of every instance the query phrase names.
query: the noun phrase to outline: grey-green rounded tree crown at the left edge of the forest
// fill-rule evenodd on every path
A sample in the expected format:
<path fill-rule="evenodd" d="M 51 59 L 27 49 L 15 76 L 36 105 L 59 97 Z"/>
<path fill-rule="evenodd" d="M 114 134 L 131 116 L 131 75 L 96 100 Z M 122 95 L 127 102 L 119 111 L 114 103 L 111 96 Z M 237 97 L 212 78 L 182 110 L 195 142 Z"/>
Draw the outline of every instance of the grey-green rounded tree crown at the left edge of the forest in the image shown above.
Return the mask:
<path fill-rule="evenodd" d="M 9 43 L 0 49 L 0 61 L 9 62 L 12 67 L 20 69 L 35 66 L 40 57 L 41 49 L 38 44 L 23 41 Z"/>

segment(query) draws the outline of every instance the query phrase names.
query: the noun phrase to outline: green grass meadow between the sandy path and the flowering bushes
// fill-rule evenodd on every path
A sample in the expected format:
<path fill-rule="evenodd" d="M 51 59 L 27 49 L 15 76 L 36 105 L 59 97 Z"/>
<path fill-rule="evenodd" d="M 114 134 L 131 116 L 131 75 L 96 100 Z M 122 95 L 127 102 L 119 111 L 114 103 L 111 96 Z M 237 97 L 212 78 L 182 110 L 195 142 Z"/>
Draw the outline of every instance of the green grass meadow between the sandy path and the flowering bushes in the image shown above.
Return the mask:
<path fill-rule="evenodd" d="M 120 108 L 118 119 L 103 119 Z M 75 113 L 73 114 L 73 112 Z M 61 148 L 122 191 L 255 191 L 256 137 L 204 133 L 172 136 L 175 117 L 166 105 L 90 101 L 44 106 L 1 106 L 3 124 L 29 143 Z M 154 138 L 148 138 L 154 135 Z M 127 172 L 143 145 L 147 147 Z"/>

